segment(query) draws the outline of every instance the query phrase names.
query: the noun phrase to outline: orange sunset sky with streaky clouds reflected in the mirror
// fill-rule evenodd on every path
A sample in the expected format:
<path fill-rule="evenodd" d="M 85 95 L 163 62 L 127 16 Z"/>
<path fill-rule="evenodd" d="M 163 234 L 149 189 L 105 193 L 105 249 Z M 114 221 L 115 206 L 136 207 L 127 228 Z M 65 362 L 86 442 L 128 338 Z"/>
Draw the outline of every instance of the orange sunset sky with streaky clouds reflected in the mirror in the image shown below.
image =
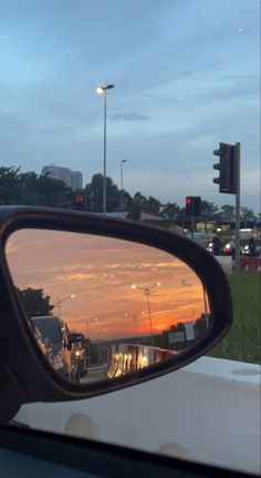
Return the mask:
<path fill-rule="evenodd" d="M 61 301 L 53 314 L 92 339 L 101 334 L 106 339 L 135 336 L 134 316 L 137 334 L 147 335 L 149 314 L 157 334 L 205 313 L 202 284 L 195 272 L 175 256 L 143 244 L 20 230 L 8 240 L 7 260 L 20 289 L 41 288 L 52 305 Z"/>

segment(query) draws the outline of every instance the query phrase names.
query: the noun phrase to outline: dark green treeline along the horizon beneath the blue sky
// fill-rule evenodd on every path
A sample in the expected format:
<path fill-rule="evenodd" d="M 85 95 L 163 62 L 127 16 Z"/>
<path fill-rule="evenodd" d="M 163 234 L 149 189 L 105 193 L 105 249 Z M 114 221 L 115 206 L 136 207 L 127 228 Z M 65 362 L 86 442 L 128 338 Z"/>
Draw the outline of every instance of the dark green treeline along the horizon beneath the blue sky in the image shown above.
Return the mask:
<path fill-rule="evenodd" d="M 106 177 L 107 212 L 121 211 L 121 190 L 111 177 Z M 85 195 L 88 211 L 102 213 L 103 211 L 103 174 L 94 174 L 91 182 L 83 190 L 72 191 L 63 181 L 50 177 L 48 174 L 35 174 L 32 171 L 21 173 L 20 169 L 0 167 L 0 205 L 23 204 L 49 207 L 73 209 L 74 197 Z M 154 196 L 146 197 L 142 192 L 133 196 L 123 191 L 124 211 L 127 217 L 139 220 L 140 214 L 148 213 L 161 215 L 170 221 L 187 221 L 189 216 L 185 207 L 177 203 L 160 204 Z M 229 204 L 220 209 L 209 201 L 202 201 L 203 221 L 233 221 L 234 206 Z M 241 207 L 241 218 L 247 224 L 255 218 L 251 209 Z"/>

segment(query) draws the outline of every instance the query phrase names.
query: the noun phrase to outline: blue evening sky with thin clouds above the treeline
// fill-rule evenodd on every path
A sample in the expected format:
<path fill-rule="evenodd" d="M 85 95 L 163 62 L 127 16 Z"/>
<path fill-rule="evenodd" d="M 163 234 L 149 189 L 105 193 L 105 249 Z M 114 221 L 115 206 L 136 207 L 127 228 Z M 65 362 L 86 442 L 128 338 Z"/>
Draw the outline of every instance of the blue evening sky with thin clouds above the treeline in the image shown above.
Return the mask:
<path fill-rule="evenodd" d="M 242 205 L 260 212 L 260 1 L 0 0 L 1 165 L 103 170 L 182 205 L 212 183 L 219 142 L 241 142 Z"/>

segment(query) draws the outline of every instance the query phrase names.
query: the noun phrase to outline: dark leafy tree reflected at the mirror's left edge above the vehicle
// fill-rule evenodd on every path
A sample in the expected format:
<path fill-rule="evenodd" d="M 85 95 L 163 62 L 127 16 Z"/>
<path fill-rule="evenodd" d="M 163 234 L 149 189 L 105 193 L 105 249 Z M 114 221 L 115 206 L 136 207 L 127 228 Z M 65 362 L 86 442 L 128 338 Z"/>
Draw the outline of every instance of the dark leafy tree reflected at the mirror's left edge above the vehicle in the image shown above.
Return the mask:
<path fill-rule="evenodd" d="M 44 295 L 42 288 L 28 287 L 20 289 L 15 287 L 15 292 L 28 317 L 52 315 L 51 312 L 54 305 L 50 304 L 50 296 Z"/>

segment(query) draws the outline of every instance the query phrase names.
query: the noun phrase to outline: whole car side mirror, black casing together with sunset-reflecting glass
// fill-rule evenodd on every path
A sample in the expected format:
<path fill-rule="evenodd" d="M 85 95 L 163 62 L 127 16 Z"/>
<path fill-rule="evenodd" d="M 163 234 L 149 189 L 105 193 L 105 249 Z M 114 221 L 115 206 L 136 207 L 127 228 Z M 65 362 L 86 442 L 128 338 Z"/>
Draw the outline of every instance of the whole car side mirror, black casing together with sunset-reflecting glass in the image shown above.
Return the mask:
<path fill-rule="evenodd" d="M 2 327 L 6 337 L 17 334 L 33 390 L 8 346 L 7 359 L 27 400 L 84 398 L 156 378 L 206 354 L 231 325 L 226 275 L 190 240 L 136 222 L 35 207 L 3 209 L 0 226 Z M 30 328 L 39 311 L 41 334 L 60 354 L 64 376 Z M 61 355 L 52 317 L 73 330 L 71 354 Z"/>

